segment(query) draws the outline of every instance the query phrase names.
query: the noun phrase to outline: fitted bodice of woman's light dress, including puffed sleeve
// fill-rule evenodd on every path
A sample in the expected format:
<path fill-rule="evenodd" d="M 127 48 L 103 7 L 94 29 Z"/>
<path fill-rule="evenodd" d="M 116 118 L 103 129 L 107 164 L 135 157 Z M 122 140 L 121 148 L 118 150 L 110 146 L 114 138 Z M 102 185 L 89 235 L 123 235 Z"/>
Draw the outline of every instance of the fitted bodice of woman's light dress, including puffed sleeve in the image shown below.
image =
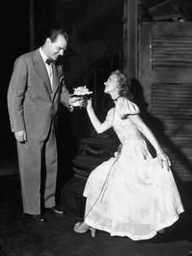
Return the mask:
<path fill-rule="evenodd" d="M 142 134 L 137 126 L 130 120 L 130 116 L 138 114 L 139 108 L 129 99 L 120 97 L 116 101 L 115 108 L 111 108 L 107 113 L 107 121 L 111 123 L 116 135 L 121 143 L 125 143 L 129 139 L 142 138 Z"/>

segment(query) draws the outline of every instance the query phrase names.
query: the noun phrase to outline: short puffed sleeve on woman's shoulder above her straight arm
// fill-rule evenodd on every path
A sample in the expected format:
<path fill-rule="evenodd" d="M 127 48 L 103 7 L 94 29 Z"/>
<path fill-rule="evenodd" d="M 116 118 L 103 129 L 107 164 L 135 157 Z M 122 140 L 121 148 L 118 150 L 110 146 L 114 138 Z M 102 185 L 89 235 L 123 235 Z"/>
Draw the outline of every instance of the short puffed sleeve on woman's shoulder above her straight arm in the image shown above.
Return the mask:
<path fill-rule="evenodd" d="M 121 119 L 140 113 L 139 108 L 129 99 L 121 98 L 116 104 L 117 111 Z"/>

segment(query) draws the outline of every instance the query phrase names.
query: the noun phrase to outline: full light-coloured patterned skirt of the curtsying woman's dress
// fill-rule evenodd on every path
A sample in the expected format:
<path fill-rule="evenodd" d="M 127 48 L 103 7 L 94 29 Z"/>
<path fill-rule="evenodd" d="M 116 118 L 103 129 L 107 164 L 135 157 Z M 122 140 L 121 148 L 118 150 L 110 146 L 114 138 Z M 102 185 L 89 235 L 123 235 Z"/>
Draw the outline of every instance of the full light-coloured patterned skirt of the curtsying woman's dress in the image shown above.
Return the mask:
<path fill-rule="evenodd" d="M 171 169 L 151 157 L 144 139 L 129 140 L 94 169 L 84 196 L 85 223 L 134 241 L 150 239 L 184 211 Z"/>

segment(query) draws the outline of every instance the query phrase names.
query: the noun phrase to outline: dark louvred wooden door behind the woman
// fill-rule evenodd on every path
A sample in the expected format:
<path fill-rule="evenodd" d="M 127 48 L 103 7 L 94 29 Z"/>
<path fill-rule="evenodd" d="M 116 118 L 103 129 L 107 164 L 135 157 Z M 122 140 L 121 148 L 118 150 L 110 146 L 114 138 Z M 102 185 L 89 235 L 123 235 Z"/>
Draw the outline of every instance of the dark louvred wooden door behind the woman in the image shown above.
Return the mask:
<path fill-rule="evenodd" d="M 192 181 L 192 24 L 146 22 L 138 31 L 138 81 L 147 112 L 173 172 Z"/>

